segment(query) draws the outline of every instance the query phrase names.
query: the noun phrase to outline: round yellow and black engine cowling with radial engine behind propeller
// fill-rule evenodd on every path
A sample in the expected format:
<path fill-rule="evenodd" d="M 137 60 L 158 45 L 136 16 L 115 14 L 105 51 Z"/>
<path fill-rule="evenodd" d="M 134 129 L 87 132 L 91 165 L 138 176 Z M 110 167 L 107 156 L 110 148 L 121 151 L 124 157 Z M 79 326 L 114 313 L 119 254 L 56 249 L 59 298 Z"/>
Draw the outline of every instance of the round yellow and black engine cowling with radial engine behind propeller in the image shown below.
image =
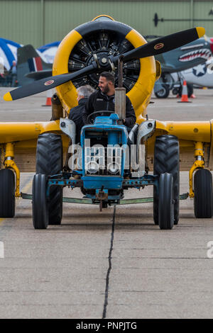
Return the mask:
<path fill-rule="evenodd" d="M 68 33 L 58 47 L 53 63 L 53 75 L 75 72 L 94 61 L 97 55 L 121 55 L 146 43 L 133 28 L 114 21 L 110 16 L 97 16 Z M 154 57 L 131 60 L 124 64 L 124 87 L 141 123 L 151 98 L 156 79 Z M 56 89 L 66 111 L 77 105 L 77 87 L 89 84 L 97 88 L 99 74 L 89 74 L 69 81 Z M 117 81 L 117 70 L 115 68 Z"/>

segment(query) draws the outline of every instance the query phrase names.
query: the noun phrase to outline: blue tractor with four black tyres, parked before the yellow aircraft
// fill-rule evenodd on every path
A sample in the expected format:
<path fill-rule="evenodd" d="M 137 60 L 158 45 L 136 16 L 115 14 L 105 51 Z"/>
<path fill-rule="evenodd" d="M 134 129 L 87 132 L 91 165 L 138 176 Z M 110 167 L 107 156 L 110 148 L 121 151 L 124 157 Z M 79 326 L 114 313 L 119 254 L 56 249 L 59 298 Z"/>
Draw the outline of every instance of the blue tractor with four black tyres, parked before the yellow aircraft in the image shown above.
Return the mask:
<path fill-rule="evenodd" d="M 123 112 L 123 111 L 122 111 Z M 125 111 L 124 111 L 125 112 Z M 69 168 L 62 167 L 62 140 L 55 133 L 38 137 L 36 174 L 33 178 L 33 226 L 46 229 L 60 225 L 62 202 L 99 205 L 124 205 L 153 201 L 155 225 L 172 229 L 179 219 L 178 138 L 161 135 L 155 140 L 154 172 L 148 174 L 146 141 L 155 132 L 155 120 L 145 120 L 131 130 L 121 125 L 121 115 L 97 111 L 89 115 L 89 125 L 81 131 L 75 145 L 75 123 L 60 118 L 60 129 L 70 137 Z M 169 151 L 173 169 L 163 165 L 162 149 Z M 160 166 L 161 165 L 161 166 Z M 124 199 L 129 188 L 154 188 L 153 198 Z M 80 188 L 83 198 L 63 198 L 62 188 Z"/>

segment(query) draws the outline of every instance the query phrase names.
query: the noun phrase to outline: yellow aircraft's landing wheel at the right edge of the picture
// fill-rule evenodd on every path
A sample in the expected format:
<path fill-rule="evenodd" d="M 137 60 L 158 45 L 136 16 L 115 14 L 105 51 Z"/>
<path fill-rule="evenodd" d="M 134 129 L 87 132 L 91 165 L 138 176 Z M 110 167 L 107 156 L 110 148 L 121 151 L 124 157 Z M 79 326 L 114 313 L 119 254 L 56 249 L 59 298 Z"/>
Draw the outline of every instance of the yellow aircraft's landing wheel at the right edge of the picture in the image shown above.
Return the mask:
<path fill-rule="evenodd" d="M 212 174 L 207 169 L 199 169 L 194 176 L 194 211 L 195 218 L 212 218 L 213 193 Z"/>

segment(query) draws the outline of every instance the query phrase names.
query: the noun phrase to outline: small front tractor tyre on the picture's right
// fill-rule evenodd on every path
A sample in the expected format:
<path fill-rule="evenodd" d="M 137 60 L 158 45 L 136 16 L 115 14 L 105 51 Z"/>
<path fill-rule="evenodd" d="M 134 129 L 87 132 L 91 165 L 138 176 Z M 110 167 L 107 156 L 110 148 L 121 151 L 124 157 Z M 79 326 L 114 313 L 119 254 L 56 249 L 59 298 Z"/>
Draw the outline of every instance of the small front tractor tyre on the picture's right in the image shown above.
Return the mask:
<path fill-rule="evenodd" d="M 160 174 L 158 221 L 160 229 L 173 229 L 174 204 L 173 204 L 173 175 Z"/>

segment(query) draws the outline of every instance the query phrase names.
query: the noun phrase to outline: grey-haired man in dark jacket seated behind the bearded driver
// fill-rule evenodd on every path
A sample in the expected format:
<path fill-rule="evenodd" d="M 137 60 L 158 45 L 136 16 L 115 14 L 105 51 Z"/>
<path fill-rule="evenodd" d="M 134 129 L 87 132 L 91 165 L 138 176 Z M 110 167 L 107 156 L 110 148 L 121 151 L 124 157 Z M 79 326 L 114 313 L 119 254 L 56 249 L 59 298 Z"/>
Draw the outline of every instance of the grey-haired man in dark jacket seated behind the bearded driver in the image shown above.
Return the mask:
<path fill-rule="evenodd" d="M 82 114 L 85 111 L 85 105 L 92 92 L 94 92 L 94 89 L 92 89 L 92 86 L 89 85 L 80 86 L 79 88 L 77 88 L 78 106 L 75 106 L 75 108 L 71 108 L 70 110 L 69 119 L 73 120 L 76 126 L 76 143 L 80 142 L 80 133 L 82 127 L 84 126 Z"/>

